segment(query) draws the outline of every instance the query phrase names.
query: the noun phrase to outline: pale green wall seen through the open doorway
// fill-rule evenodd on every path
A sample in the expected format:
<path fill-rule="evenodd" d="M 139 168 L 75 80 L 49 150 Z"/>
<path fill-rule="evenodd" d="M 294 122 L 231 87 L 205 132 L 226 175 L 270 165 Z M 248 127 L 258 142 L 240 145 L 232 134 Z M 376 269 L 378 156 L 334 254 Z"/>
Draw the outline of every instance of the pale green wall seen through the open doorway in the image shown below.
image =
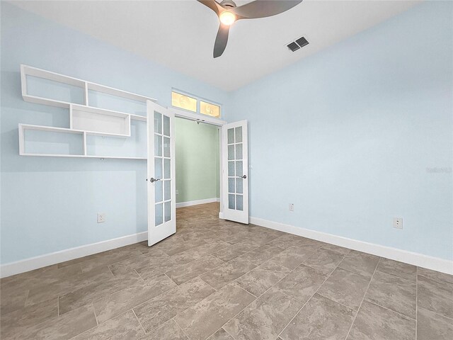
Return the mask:
<path fill-rule="evenodd" d="M 176 202 L 219 197 L 219 130 L 176 118 Z"/>

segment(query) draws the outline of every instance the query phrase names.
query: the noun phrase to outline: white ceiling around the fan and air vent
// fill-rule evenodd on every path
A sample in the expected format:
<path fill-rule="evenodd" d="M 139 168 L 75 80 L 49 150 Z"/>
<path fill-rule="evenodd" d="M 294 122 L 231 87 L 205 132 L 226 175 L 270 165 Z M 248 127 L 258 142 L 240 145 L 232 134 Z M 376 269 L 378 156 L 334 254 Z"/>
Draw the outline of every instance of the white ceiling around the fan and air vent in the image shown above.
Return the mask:
<path fill-rule="evenodd" d="M 250 1 L 236 1 L 238 6 Z M 13 1 L 117 47 L 232 91 L 312 55 L 419 1 L 305 0 L 270 18 L 241 20 L 231 27 L 224 54 L 213 59 L 218 18 L 195 0 Z M 304 36 L 309 45 L 289 52 Z"/>

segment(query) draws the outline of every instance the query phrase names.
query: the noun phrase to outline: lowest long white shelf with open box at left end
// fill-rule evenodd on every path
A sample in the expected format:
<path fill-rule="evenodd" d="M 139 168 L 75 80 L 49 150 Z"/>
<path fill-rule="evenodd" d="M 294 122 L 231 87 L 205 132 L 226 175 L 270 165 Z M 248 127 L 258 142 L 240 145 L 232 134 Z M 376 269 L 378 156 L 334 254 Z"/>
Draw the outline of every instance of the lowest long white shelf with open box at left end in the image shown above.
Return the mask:
<path fill-rule="evenodd" d="M 41 156 L 41 157 L 79 157 L 79 158 L 98 158 L 98 159 L 147 159 L 147 157 L 120 157 L 120 156 L 102 156 L 102 155 L 93 155 L 93 154 L 86 154 L 86 136 L 87 135 L 103 135 L 103 136 L 113 136 L 117 137 L 117 135 L 108 134 L 108 133 L 101 133 L 101 132 L 92 132 L 92 131 L 84 131 L 84 130 L 74 130 L 74 129 L 67 129 L 67 128 L 54 128 L 51 126 L 43 126 L 43 125 L 28 125 L 28 124 L 19 124 L 19 154 L 21 156 Z M 25 132 L 27 130 L 31 131 L 40 131 L 40 132 L 50 132 L 50 133 L 57 133 L 57 134 L 68 134 L 68 135 L 80 135 L 80 145 L 79 153 L 43 153 L 43 152 L 28 152 L 26 148 L 26 140 L 25 140 Z M 54 143 L 56 144 L 56 143 Z M 62 143 L 64 144 L 64 143 Z M 69 148 L 68 148 L 69 149 Z"/>

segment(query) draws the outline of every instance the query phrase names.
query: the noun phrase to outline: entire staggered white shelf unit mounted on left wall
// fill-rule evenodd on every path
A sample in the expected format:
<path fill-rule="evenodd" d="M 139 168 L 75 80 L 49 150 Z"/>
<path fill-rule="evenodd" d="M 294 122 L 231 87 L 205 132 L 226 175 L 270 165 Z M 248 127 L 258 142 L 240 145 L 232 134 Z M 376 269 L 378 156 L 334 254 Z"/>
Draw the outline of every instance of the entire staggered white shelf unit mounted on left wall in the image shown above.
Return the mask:
<path fill-rule="evenodd" d="M 55 91 L 49 92 L 49 89 Z M 146 103 L 147 101 L 155 102 L 156 99 L 24 64 L 21 64 L 21 91 L 24 101 L 67 108 L 69 111 L 69 128 L 19 124 L 19 154 L 22 156 L 147 159 L 147 157 L 89 154 L 90 152 L 87 151 L 88 135 L 128 138 L 131 137 L 131 120 L 139 122 L 147 121 L 147 117 L 144 115 L 90 106 L 89 98 L 93 100 L 93 92 L 91 91 L 94 91 L 113 96 L 112 98 L 116 97 L 117 99 L 115 100 L 138 102 L 139 106 L 142 106 L 142 103 Z M 112 105 L 110 104 L 110 106 Z M 120 106 L 122 106 L 121 103 Z M 29 141 L 30 147 L 26 146 L 25 132 L 27 130 L 34 130 L 36 132 L 33 135 L 33 140 Z M 49 133 L 47 135 L 41 135 L 40 132 Z M 54 132 L 53 135 L 52 132 Z M 69 135 L 66 138 L 64 134 L 80 135 L 81 144 L 79 144 L 77 138 L 69 137 Z M 43 140 L 39 140 L 38 135 L 43 136 Z M 30 136 L 32 136 L 32 132 L 30 132 Z M 114 144 L 118 145 L 117 143 Z M 49 146 L 48 150 L 45 149 L 46 145 Z M 38 152 L 36 152 L 37 150 Z M 55 150 L 57 152 L 54 152 Z"/>

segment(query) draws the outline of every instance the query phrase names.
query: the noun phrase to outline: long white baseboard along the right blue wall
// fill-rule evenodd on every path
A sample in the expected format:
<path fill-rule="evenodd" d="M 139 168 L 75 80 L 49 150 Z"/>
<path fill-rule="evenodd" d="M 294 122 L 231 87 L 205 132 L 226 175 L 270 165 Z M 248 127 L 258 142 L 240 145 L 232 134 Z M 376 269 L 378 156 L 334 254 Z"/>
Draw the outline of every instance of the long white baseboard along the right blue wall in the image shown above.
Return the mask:
<path fill-rule="evenodd" d="M 253 225 L 280 230 L 281 232 L 287 232 L 289 234 L 307 237 L 309 239 L 316 239 L 321 242 L 335 244 L 337 246 L 344 246 L 345 248 L 363 251 L 364 253 L 385 257 L 386 259 L 401 261 L 413 264 L 414 266 L 428 268 L 432 269 L 433 271 L 440 271 L 442 273 L 453 275 L 453 261 L 440 259 L 438 257 L 413 253 L 412 251 L 396 249 L 390 246 L 381 246 L 379 244 L 357 241 L 356 239 L 348 239 L 347 237 L 327 234 L 326 232 L 316 232 L 315 230 L 294 227 L 294 225 L 285 225 L 283 223 L 273 222 L 269 220 L 263 220 L 262 218 L 258 217 L 250 217 L 250 222 Z"/>

